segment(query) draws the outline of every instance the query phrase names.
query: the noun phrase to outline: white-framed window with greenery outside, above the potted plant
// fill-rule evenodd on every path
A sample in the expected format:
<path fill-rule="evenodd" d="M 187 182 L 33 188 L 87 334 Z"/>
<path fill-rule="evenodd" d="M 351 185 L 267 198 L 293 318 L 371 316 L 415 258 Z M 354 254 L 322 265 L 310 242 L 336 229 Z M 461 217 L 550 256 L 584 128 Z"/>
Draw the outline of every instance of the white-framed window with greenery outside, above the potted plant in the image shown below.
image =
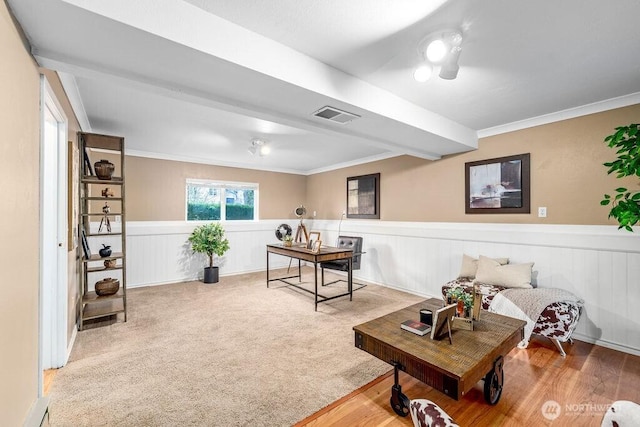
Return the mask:
<path fill-rule="evenodd" d="M 258 219 L 258 184 L 188 179 L 187 221 Z"/>

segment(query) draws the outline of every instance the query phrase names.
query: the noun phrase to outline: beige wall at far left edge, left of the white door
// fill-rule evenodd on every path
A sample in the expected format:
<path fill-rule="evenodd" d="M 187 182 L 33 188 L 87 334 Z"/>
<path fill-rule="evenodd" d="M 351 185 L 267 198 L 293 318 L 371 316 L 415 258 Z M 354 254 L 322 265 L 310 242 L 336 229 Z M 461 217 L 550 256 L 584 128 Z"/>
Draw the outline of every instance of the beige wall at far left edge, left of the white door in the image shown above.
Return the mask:
<path fill-rule="evenodd" d="M 0 5 L 0 425 L 22 425 L 38 397 L 40 77 Z"/>

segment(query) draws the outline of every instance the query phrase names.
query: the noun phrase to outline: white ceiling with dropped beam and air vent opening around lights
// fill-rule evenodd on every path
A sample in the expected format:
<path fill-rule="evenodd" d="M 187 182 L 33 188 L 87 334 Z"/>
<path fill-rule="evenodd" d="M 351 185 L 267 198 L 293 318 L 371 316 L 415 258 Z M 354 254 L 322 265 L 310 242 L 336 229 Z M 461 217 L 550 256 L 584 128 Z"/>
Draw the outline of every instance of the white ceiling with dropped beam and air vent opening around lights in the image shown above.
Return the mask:
<path fill-rule="evenodd" d="M 637 0 L 8 3 L 83 130 L 132 155 L 309 174 L 640 102 Z M 446 28 L 458 78 L 415 82 L 417 45 Z M 311 115 L 325 105 L 361 117 Z"/>

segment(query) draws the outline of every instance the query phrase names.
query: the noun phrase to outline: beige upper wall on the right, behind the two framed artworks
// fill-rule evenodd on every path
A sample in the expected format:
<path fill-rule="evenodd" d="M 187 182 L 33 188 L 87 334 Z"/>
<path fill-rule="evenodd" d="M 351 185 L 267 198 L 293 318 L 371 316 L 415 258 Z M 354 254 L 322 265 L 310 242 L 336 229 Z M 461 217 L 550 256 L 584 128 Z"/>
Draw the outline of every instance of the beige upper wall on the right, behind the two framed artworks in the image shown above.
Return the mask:
<path fill-rule="evenodd" d="M 603 162 L 615 159 L 603 142 L 615 127 L 638 122 L 640 105 L 483 138 L 478 150 L 438 161 L 402 156 L 308 177 L 309 209 L 338 219 L 346 208 L 346 178 L 381 173 L 381 220 L 544 224 L 616 224 L 600 206 L 621 184 Z M 465 214 L 465 162 L 531 153 L 531 214 Z M 327 189 L 335 189 L 328 191 Z M 538 218 L 545 206 L 547 218 Z"/>

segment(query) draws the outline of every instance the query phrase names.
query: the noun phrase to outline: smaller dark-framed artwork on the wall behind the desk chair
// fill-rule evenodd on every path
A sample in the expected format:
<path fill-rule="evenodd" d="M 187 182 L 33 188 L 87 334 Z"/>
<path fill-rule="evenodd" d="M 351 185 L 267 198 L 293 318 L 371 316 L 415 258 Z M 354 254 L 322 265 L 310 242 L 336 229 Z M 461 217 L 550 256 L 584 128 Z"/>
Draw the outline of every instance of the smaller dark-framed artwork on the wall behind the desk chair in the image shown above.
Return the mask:
<path fill-rule="evenodd" d="M 380 219 L 380 174 L 347 178 L 347 218 Z"/>

